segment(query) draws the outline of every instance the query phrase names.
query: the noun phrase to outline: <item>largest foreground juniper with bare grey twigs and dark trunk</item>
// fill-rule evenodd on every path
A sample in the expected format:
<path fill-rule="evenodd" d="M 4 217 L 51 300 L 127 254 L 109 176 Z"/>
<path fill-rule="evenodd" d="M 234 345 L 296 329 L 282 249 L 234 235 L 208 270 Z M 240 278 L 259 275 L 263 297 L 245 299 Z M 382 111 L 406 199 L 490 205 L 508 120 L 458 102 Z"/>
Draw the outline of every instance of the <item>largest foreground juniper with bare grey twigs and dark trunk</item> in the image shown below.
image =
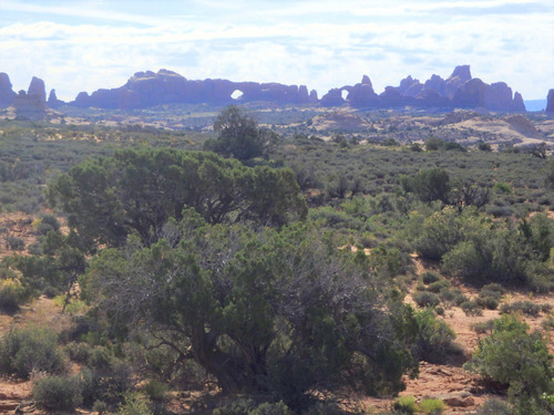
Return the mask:
<path fill-rule="evenodd" d="M 310 229 L 198 225 L 184 225 L 175 248 L 104 250 L 81 281 L 85 294 L 113 325 L 155 330 L 226 391 L 269 388 L 296 408 L 314 385 L 401 386 L 417 328 L 398 297 L 380 294 L 387 280 Z"/>

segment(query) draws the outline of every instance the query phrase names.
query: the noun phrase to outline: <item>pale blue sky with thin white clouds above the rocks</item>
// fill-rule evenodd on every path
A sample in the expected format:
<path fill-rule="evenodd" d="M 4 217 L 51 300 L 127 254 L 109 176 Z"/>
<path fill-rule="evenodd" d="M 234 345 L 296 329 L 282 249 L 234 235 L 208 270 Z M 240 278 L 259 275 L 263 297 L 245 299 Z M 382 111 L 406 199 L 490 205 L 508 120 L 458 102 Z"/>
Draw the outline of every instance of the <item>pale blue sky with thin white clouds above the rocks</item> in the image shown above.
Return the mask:
<path fill-rule="evenodd" d="M 304 84 L 319 96 L 367 74 L 554 89 L 554 0 L 0 0 L 0 72 L 71 101 L 135 72 Z"/>

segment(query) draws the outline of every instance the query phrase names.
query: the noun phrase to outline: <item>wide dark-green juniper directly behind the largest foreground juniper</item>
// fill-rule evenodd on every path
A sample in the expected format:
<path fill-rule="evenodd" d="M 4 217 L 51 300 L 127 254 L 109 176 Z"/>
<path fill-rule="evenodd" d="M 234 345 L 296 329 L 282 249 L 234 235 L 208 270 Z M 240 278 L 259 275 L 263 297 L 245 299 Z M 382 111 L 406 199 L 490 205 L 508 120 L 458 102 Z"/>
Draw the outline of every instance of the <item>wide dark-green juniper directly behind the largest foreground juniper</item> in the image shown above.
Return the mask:
<path fill-rule="evenodd" d="M 307 211 L 289 169 L 248 168 L 215 154 L 168 148 L 120 151 L 82 163 L 51 184 L 48 197 L 88 247 L 121 247 L 133 232 L 153 243 L 184 208 L 209 224 L 263 226 L 281 226 Z"/>

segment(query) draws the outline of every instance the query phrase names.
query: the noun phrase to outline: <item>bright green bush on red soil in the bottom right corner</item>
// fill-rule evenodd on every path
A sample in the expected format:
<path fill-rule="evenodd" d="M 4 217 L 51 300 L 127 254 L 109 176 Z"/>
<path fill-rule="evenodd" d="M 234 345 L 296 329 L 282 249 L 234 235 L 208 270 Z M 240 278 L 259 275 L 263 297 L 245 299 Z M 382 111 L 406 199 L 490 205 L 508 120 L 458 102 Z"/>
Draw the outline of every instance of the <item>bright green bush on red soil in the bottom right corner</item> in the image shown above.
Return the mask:
<path fill-rule="evenodd" d="M 543 336 L 513 315 L 494 322 L 492 334 L 480 341 L 465 369 L 507 386 L 512 403 L 538 402 L 551 393 L 552 356 Z"/>

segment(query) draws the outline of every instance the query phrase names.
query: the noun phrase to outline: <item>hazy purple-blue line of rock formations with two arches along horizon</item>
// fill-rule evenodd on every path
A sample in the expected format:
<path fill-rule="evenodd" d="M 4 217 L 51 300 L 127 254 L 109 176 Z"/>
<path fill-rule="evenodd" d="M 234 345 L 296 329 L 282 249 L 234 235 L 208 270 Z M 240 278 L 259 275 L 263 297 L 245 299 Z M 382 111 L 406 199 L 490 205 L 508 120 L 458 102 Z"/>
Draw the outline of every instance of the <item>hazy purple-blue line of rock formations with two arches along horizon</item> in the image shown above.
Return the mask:
<path fill-rule="evenodd" d="M 270 105 L 312 104 L 326 107 L 349 106 L 353 108 L 468 108 L 520 113 L 525 112 L 523 97 L 504 82 L 486 84 L 472 77 L 470 65 L 454 69 L 448 79 L 433 74 L 420 82 L 412 76 L 400 81 L 398 86 L 387 86 L 378 94 L 369 76 L 360 83 L 329 90 L 318 98 L 315 90 L 306 85 L 284 85 L 279 83 L 233 82 L 228 80 L 187 80 L 176 72 L 160 70 L 135 73 L 124 85 L 116 89 L 100 89 L 89 94 L 81 92 L 68 105 L 82 108 L 106 110 L 147 108 L 165 104 L 213 104 L 265 102 Z M 0 73 L 0 108 L 13 106 L 21 116 L 25 113 L 37 116 L 44 108 L 59 108 L 65 103 L 55 95 L 55 90 L 45 94 L 44 82 L 33 77 L 29 90 L 16 94 L 9 76 Z M 31 108 L 34 108 L 31 111 Z M 548 93 L 547 112 L 554 113 L 553 92 Z"/>

